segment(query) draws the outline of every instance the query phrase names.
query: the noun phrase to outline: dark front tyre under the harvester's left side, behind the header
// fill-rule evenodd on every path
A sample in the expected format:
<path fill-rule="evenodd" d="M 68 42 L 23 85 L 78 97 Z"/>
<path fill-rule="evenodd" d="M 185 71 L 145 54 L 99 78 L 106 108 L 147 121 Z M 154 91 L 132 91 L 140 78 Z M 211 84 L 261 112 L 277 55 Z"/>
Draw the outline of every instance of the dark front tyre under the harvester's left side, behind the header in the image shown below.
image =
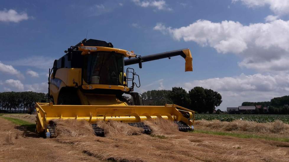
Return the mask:
<path fill-rule="evenodd" d="M 58 97 L 58 105 L 80 105 L 76 92 L 61 92 Z"/>

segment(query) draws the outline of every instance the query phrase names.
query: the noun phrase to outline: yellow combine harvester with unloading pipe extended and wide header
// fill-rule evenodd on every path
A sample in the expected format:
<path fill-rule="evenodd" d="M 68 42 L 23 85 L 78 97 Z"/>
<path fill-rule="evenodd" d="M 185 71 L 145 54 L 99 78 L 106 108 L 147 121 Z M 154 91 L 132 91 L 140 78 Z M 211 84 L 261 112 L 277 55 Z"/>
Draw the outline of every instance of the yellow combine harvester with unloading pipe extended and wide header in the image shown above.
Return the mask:
<path fill-rule="evenodd" d="M 142 68 L 142 62 L 177 55 L 184 57 L 185 71 L 192 71 L 189 49 L 141 57 L 133 51 L 113 48 L 105 41 L 84 39 L 65 53 L 49 70 L 49 102 L 35 105 L 36 130 L 46 138 L 55 133 L 53 119 L 87 120 L 92 123 L 95 135 L 103 135 L 96 125 L 99 120 L 125 122 L 143 128 L 144 133 L 151 130 L 142 121 L 155 118 L 171 120 L 182 131 L 193 129 L 194 111 L 174 104 L 144 106 L 140 94 L 133 92 L 134 86 L 140 86 L 139 76 L 132 68 L 124 72 L 127 65 L 139 64 Z M 132 105 L 124 94 L 131 95 Z"/>

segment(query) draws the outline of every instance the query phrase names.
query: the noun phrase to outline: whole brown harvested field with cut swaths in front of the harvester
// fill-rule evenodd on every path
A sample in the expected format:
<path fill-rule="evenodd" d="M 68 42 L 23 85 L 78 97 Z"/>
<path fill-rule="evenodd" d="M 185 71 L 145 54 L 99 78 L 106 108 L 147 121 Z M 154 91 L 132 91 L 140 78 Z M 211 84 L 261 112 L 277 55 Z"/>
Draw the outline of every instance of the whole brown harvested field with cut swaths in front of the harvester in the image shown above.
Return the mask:
<path fill-rule="evenodd" d="M 105 137 L 95 136 L 85 121 L 56 122 L 58 136 L 54 139 L 23 135 L 7 126 L 1 131 L 5 136 L 0 137 L 0 161 L 42 161 L 43 157 L 47 161 L 289 161 L 286 142 L 179 132 L 162 120 L 146 122 L 152 135 L 139 134 L 124 123 L 102 122 Z M 15 132 L 11 138 L 9 130 Z M 40 151 L 35 154 L 35 150 Z"/>

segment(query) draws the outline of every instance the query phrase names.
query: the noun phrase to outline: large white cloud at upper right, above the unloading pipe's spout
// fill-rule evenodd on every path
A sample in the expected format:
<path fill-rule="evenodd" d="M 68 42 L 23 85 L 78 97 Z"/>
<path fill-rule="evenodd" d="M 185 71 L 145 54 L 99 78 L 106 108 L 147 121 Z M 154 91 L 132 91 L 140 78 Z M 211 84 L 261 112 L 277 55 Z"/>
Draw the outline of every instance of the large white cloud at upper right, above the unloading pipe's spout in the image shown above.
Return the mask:
<path fill-rule="evenodd" d="M 154 30 L 170 34 L 174 39 L 192 41 L 219 53 L 243 57 L 241 67 L 259 71 L 288 71 L 289 21 L 243 25 L 234 21 L 198 20 L 186 27 L 172 28 L 158 23 Z M 275 66 L 276 65 L 276 66 Z"/>

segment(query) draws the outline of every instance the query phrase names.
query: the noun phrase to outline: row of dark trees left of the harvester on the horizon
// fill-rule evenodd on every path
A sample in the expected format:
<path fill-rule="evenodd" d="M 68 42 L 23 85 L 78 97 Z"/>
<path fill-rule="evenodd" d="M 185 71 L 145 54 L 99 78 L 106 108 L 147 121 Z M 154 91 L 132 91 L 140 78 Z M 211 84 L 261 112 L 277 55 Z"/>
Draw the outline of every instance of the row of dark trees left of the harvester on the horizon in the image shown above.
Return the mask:
<path fill-rule="evenodd" d="M 28 108 L 34 108 L 45 93 L 37 92 L 0 92 L 0 111 L 3 113 L 27 113 Z"/>

